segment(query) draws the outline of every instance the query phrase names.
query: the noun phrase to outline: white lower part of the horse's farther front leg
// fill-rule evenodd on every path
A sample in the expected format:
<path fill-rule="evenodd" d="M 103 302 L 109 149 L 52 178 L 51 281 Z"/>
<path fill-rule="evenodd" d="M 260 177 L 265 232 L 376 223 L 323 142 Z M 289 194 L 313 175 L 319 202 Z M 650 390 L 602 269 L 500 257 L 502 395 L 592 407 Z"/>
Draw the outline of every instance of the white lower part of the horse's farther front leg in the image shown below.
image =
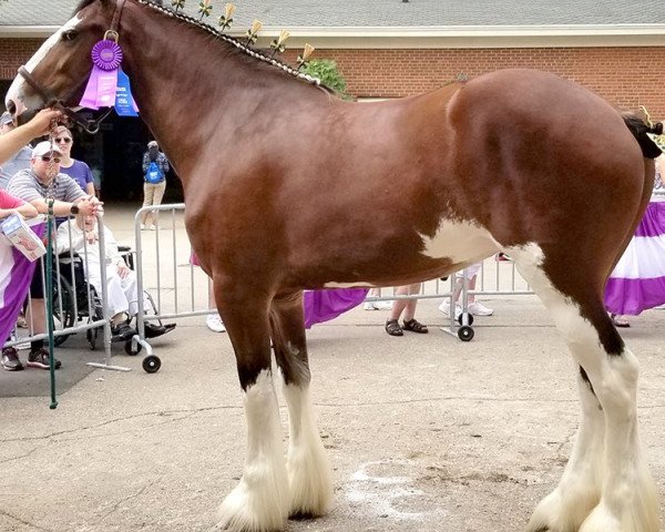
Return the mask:
<path fill-rule="evenodd" d="M 289 413 L 290 513 L 323 515 L 332 503 L 332 472 L 316 427 L 309 387 L 285 383 L 284 397 Z"/>

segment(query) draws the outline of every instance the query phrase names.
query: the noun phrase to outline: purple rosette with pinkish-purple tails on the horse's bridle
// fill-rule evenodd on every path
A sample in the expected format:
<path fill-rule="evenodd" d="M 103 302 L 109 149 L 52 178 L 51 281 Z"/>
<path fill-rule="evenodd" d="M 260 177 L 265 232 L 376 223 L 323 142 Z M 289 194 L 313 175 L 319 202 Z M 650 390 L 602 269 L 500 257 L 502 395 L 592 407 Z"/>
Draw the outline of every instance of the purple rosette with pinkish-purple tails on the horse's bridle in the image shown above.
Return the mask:
<path fill-rule="evenodd" d="M 105 39 L 92 47 L 91 57 L 92 72 L 79 105 L 90 109 L 110 108 L 115 103 L 122 50 L 117 42 Z"/>

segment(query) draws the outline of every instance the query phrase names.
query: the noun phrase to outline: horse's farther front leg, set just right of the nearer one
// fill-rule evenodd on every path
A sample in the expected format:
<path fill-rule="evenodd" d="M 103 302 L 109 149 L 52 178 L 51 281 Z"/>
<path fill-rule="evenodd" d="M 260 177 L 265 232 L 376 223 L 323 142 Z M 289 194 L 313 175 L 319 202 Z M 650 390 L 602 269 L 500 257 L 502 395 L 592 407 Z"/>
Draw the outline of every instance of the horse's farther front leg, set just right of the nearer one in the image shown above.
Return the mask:
<path fill-rule="evenodd" d="M 332 502 L 332 480 L 311 408 L 300 293 L 273 300 L 270 326 L 275 358 L 284 376 L 284 396 L 288 406 L 286 468 L 290 488 L 289 514 L 323 515 Z"/>

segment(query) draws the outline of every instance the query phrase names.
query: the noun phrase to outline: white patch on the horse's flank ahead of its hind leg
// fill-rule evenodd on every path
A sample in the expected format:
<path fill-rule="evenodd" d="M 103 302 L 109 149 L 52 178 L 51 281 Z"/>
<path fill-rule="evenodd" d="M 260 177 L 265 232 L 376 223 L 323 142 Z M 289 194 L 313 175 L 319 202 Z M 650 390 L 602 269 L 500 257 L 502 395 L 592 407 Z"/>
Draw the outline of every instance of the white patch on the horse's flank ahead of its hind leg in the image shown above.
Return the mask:
<path fill-rule="evenodd" d="M 501 250 L 489 231 L 470 222 L 441 218 L 433 237 L 420 235 L 424 244 L 422 255 L 450 258 L 453 263 L 473 263 Z"/>

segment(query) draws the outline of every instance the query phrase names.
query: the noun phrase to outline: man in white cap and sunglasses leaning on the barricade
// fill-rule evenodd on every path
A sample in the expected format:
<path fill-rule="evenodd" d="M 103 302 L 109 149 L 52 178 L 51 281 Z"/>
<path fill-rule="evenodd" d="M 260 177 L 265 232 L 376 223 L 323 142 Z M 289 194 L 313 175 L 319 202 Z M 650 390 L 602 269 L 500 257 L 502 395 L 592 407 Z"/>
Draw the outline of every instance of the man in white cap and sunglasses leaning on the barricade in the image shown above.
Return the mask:
<path fill-rule="evenodd" d="M 53 198 L 53 214 L 69 216 L 82 214 L 95 216 L 103 212 L 102 203 L 94 196 L 85 194 L 79 184 L 69 175 L 60 172 L 62 151 L 58 144 L 43 141 L 32 150 L 30 168 L 22 170 L 9 181 L 8 192 L 28 203 L 31 203 L 40 214 L 48 214 L 47 198 Z M 30 284 L 31 304 L 28 306 L 27 320 L 32 325 L 31 336 L 41 335 L 47 330 L 44 288 L 41 269 L 35 268 Z M 49 369 L 49 350 L 44 340 L 30 342 L 28 366 Z M 55 368 L 59 360 L 53 360 Z"/>

